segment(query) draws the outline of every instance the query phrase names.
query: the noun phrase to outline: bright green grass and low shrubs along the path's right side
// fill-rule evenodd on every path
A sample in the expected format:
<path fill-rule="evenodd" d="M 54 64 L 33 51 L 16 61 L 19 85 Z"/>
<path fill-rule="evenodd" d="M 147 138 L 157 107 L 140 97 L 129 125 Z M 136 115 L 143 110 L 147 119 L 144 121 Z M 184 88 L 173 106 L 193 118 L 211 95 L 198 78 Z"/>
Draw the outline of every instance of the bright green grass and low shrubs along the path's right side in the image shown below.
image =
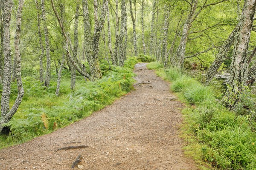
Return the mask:
<path fill-rule="evenodd" d="M 201 169 L 255 170 L 256 133 L 255 122 L 248 116 L 238 116 L 219 103 L 212 87 L 205 87 L 189 75 L 175 68 L 158 67 L 152 62 L 148 68 L 163 79 L 172 82 L 171 90 L 188 104 L 183 109 L 182 136 L 189 138 L 184 147 Z"/>

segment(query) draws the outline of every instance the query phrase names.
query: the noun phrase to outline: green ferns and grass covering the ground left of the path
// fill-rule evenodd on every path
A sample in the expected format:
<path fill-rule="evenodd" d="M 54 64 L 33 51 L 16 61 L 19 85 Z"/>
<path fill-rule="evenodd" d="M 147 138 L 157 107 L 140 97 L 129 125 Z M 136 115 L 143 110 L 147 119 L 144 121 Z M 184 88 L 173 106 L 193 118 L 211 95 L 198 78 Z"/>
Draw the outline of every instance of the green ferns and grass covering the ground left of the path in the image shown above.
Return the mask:
<path fill-rule="evenodd" d="M 70 90 L 70 71 L 63 70 L 58 97 L 55 96 L 56 74 L 52 73 L 47 89 L 36 77 L 24 77 L 23 101 L 17 113 L 6 124 L 11 133 L 0 135 L 0 148 L 50 133 L 110 105 L 116 98 L 133 89 L 133 68 L 136 63 L 136 57 L 130 57 L 125 61 L 125 67 L 112 65 L 111 70 L 107 63 L 102 63 L 103 78 L 95 82 L 85 82 L 77 74 L 74 91 Z M 12 89 L 16 89 L 15 83 Z M 14 102 L 16 94 L 17 91 L 12 91 L 11 102 Z"/>

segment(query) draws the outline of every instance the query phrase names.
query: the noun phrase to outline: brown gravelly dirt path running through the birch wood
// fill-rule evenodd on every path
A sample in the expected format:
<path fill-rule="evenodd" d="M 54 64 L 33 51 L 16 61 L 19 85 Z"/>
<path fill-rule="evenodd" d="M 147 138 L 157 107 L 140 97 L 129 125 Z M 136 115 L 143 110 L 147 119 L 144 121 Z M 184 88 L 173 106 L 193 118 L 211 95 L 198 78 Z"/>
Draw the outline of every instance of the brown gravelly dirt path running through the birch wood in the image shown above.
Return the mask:
<path fill-rule="evenodd" d="M 113 105 L 51 134 L 0 150 L 0 170 L 69 170 L 79 155 L 79 168 L 86 170 L 197 170 L 181 150 L 181 104 L 169 92 L 169 83 L 145 63 L 137 64 L 136 72 L 136 91 Z M 57 151 L 80 145 L 89 147 Z"/>

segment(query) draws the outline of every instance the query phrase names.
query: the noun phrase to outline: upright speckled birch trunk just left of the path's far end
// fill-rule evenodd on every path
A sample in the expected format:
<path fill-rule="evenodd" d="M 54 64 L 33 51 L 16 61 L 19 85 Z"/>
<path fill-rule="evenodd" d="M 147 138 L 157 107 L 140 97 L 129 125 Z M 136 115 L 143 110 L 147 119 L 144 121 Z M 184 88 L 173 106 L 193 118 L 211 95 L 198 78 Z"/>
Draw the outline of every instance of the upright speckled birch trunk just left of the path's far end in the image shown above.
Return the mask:
<path fill-rule="evenodd" d="M 119 34 L 119 66 L 124 66 L 124 50 L 123 50 L 123 39 L 125 37 L 125 24 L 126 24 L 126 19 L 127 14 L 126 14 L 126 4 L 125 0 L 121 1 L 121 26 L 120 26 L 120 34 Z"/>

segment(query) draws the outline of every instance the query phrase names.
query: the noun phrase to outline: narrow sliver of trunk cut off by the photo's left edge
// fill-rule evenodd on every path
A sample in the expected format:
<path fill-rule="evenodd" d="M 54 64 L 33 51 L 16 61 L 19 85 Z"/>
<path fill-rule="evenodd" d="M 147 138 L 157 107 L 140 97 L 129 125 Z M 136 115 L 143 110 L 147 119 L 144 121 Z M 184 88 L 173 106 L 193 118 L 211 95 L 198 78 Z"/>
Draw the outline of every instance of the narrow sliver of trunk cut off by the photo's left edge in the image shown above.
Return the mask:
<path fill-rule="evenodd" d="M 2 11 L 3 11 L 3 0 L 0 0 L 0 84 L 3 84 L 3 16 L 2 16 Z"/>

